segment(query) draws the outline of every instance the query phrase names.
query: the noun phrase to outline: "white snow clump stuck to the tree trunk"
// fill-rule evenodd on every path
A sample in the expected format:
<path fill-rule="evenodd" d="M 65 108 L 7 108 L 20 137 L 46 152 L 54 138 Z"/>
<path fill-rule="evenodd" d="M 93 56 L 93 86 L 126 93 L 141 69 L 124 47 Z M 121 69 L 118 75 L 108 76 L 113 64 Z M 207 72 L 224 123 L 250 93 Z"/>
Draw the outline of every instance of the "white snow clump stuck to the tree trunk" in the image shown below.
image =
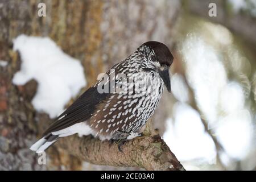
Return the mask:
<path fill-rule="evenodd" d="M 14 51 L 19 51 L 22 59 L 13 84 L 24 85 L 35 79 L 38 90 L 32 105 L 51 118 L 57 117 L 65 104 L 86 85 L 80 61 L 64 53 L 48 37 L 19 35 L 13 43 Z"/>

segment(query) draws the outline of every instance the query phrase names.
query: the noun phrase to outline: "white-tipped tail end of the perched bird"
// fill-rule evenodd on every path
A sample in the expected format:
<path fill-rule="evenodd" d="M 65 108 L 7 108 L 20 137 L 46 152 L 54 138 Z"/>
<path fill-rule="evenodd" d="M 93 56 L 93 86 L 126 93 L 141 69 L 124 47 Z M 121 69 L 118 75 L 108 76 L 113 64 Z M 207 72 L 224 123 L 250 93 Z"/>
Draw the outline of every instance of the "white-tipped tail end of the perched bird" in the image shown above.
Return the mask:
<path fill-rule="evenodd" d="M 30 147 L 30 150 L 36 151 L 36 153 L 41 153 L 57 140 L 59 140 L 59 135 L 48 134 L 34 143 Z"/>

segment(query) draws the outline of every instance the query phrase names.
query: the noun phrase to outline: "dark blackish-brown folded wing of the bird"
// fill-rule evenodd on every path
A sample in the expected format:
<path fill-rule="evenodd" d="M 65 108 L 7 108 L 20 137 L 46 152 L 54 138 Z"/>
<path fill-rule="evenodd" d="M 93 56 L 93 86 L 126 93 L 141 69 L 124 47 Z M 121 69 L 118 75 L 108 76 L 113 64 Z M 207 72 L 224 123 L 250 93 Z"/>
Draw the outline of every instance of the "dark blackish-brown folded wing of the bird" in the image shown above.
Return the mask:
<path fill-rule="evenodd" d="M 90 118 L 98 104 L 103 102 L 109 93 L 98 93 L 97 86 L 90 87 L 71 106 L 68 107 L 57 120 L 44 132 L 44 135 L 59 131 Z"/>

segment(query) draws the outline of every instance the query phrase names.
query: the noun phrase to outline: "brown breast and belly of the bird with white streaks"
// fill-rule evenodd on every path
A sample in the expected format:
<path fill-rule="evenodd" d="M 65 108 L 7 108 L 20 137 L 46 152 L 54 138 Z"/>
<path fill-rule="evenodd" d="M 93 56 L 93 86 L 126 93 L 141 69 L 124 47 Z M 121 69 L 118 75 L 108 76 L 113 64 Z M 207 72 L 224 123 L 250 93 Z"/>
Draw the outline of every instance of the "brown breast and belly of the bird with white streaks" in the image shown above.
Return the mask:
<path fill-rule="evenodd" d="M 119 81 L 123 89 L 115 90 L 98 104 L 88 125 L 101 139 L 111 139 L 117 131 L 138 131 L 154 113 L 162 96 L 163 81 L 155 75 L 144 78 L 135 76 L 132 82 Z"/>

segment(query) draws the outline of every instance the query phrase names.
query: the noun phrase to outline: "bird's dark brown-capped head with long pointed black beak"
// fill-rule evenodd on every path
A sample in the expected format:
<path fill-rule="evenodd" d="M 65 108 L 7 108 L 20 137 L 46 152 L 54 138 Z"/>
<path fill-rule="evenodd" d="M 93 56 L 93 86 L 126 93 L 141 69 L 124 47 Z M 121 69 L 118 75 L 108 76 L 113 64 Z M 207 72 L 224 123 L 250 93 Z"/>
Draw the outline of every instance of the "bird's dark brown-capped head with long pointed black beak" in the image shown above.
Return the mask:
<path fill-rule="evenodd" d="M 169 68 L 174 61 L 174 56 L 172 56 L 168 47 L 163 43 L 150 41 L 142 44 L 138 51 L 142 51 L 147 56 L 147 60 L 152 65 L 150 69 L 154 69 L 154 71 L 159 73 L 168 92 L 171 92 Z"/>

